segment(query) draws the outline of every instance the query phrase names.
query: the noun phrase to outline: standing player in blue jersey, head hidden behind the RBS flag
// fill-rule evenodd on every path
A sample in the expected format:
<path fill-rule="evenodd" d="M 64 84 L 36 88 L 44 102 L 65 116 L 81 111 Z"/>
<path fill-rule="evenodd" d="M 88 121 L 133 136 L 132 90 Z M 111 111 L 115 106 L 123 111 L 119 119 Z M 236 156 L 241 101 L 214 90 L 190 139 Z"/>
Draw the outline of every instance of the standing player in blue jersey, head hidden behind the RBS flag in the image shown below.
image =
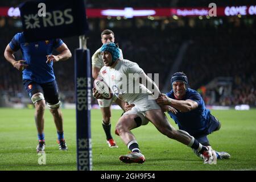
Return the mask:
<path fill-rule="evenodd" d="M 53 48 L 59 52 L 59 55 L 52 55 Z M 19 49 L 22 52 L 23 59 L 17 61 L 13 54 Z M 59 149 L 67 150 L 58 87 L 53 73 L 53 62 L 67 60 L 72 56 L 67 45 L 61 39 L 28 43 L 23 32 L 21 32 L 16 34 L 7 45 L 4 55 L 14 68 L 22 71 L 24 89 L 35 105 L 35 123 L 39 139 L 36 151 L 44 151 L 46 145 L 44 141 L 44 110 L 46 103 L 56 125 Z"/>

